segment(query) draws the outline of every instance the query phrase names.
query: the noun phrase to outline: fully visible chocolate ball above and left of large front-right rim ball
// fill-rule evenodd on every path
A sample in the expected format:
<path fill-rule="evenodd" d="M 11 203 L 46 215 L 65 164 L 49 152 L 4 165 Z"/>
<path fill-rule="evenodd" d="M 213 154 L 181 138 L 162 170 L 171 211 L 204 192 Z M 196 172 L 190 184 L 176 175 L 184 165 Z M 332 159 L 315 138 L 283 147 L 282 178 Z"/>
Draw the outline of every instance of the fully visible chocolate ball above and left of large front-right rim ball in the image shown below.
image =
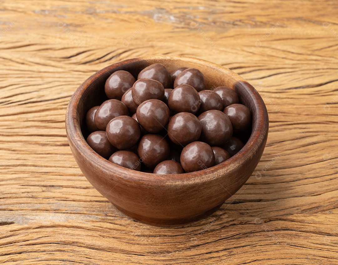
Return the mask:
<path fill-rule="evenodd" d="M 171 117 L 168 123 L 168 136 L 175 144 L 186 146 L 197 141 L 201 135 L 201 123 L 189 112 L 179 112 Z"/>

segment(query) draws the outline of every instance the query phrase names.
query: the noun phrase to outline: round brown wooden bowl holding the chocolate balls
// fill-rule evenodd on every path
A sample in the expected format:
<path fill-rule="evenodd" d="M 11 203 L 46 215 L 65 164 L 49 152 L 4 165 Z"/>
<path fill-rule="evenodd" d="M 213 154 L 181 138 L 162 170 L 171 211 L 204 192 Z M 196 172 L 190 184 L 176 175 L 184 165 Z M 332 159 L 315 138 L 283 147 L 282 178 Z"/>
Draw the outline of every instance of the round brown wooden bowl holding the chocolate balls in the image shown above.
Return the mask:
<path fill-rule="evenodd" d="M 252 113 L 252 133 L 245 146 L 221 164 L 193 173 L 157 175 L 113 164 L 87 144 L 86 112 L 106 96 L 104 83 L 117 70 L 137 77 L 153 63 L 169 71 L 179 67 L 199 69 L 207 88 L 228 86 Z M 119 211 L 156 226 L 172 226 L 204 218 L 216 211 L 247 181 L 257 166 L 268 136 L 268 113 L 256 89 L 239 75 L 218 64 L 183 56 L 154 55 L 114 63 L 84 81 L 74 92 L 66 113 L 70 148 L 83 175 Z"/>

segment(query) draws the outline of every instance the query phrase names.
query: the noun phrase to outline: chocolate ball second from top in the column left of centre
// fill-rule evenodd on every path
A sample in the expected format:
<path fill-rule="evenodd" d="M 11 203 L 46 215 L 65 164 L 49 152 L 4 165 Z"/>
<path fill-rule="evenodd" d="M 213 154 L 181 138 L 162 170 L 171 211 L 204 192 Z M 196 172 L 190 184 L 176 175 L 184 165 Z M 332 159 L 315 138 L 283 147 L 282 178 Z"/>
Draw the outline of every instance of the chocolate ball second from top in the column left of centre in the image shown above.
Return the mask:
<path fill-rule="evenodd" d="M 142 78 L 137 80 L 131 88 L 132 100 L 136 105 L 148 99 L 163 100 L 164 88 L 163 85 L 154 79 Z"/>

